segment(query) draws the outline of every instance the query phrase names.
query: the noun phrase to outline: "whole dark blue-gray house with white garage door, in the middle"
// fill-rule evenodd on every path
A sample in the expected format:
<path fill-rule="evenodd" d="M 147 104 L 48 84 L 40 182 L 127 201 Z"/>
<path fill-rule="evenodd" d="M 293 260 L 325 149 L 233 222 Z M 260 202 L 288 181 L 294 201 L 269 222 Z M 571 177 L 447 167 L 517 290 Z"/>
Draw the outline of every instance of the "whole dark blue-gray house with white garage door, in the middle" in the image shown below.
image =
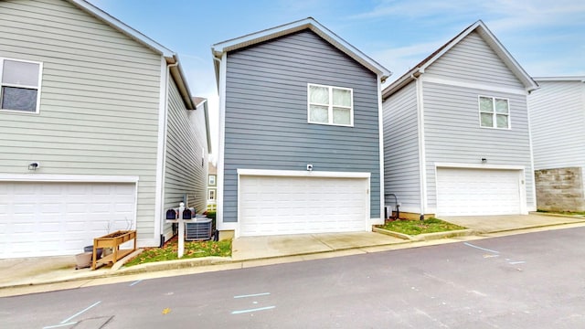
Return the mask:
<path fill-rule="evenodd" d="M 390 72 L 309 17 L 212 46 L 221 237 L 381 223 Z"/>

